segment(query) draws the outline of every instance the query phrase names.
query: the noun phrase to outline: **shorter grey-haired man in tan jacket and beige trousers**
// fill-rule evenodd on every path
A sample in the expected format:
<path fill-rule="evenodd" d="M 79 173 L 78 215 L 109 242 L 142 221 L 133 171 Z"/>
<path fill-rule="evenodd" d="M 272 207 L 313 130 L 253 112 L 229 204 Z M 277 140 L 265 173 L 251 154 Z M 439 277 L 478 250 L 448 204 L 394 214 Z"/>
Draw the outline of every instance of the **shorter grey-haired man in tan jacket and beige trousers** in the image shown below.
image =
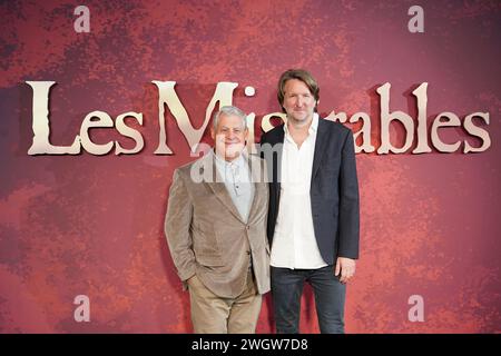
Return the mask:
<path fill-rule="evenodd" d="M 255 333 L 269 290 L 266 169 L 244 154 L 245 119 L 223 107 L 210 130 L 215 150 L 176 169 L 169 191 L 165 233 L 195 333 Z"/>

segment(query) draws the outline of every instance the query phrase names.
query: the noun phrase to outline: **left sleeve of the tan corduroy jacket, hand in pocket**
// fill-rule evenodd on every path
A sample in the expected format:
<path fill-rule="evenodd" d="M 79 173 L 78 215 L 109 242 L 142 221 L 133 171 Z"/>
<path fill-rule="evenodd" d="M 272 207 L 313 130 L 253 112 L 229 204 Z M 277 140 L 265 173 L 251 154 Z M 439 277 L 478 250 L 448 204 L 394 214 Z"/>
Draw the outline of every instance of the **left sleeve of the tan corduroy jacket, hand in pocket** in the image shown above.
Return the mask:
<path fill-rule="evenodd" d="M 188 190 L 178 169 L 174 171 L 169 190 L 167 214 L 165 217 L 165 235 L 174 265 L 179 278 L 185 281 L 195 275 L 196 261 L 193 251 L 190 225 L 193 205 Z"/>

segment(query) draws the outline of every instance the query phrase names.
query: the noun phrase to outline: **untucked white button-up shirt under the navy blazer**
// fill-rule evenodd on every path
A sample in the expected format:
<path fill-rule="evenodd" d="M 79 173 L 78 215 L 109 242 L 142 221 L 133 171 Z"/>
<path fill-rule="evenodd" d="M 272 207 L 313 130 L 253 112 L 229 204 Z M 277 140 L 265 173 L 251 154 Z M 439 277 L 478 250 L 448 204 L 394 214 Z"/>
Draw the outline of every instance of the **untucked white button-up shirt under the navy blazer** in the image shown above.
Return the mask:
<path fill-rule="evenodd" d="M 298 148 L 284 125 L 281 200 L 271 256 L 274 267 L 316 269 L 327 266 L 316 244 L 310 198 L 317 129 L 315 112 L 308 136 Z"/>

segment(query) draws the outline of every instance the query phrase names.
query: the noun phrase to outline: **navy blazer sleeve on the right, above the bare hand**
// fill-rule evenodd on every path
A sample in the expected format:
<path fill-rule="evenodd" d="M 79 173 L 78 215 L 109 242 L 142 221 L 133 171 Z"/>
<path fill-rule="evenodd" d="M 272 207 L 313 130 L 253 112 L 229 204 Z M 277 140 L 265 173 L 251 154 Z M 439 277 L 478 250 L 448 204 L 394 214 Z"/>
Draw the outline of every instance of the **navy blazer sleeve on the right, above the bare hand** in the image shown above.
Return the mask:
<path fill-rule="evenodd" d="M 352 130 L 347 131 L 341 157 L 337 256 L 358 258 L 360 198 Z"/>

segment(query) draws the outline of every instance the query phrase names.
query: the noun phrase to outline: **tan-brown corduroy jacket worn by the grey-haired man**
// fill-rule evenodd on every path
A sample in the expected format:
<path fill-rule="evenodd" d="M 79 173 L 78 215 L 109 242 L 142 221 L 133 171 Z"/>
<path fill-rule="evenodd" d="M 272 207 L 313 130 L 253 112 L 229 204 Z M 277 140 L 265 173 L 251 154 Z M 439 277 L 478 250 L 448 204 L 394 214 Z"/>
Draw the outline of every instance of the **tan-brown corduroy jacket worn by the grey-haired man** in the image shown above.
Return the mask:
<path fill-rule="evenodd" d="M 265 162 L 249 155 L 254 200 L 247 221 L 226 190 L 215 166 L 214 152 L 174 172 L 165 234 L 179 278 L 197 275 L 223 298 L 237 297 L 252 268 L 259 294 L 269 290 L 269 246 L 266 238 L 268 185 Z"/>

